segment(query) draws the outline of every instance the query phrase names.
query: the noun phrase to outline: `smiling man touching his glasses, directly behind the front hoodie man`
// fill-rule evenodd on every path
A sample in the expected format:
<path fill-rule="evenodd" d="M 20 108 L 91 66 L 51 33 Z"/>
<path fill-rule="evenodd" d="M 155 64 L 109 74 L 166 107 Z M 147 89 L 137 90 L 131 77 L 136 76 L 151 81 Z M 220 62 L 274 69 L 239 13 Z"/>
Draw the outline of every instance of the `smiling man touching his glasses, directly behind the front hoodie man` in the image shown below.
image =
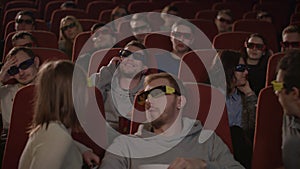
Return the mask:
<path fill-rule="evenodd" d="M 144 49 L 138 41 L 129 42 L 119 56 L 96 74 L 95 83 L 103 96 L 106 121 L 117 131 L 119 118 L 130 117 L 134 96 L 143 86 L 147 69 Z"/>

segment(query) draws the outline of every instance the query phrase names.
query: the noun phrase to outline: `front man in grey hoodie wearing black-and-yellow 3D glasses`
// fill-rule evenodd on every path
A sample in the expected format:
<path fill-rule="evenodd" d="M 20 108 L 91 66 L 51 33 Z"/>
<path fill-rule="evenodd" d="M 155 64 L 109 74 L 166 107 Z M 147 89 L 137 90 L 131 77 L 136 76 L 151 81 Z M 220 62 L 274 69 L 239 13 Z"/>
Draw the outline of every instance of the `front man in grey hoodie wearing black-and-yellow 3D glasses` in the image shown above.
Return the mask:
<path fill-rule="evenodd" d="M 146 76 L 144 90 L 136 99 L 144 107 L 138 113 L 145 113 L 147 123 L 141 124 L 134 136 L 116 138 L 100 169 L 134 169 L 151 164 L 176 169 L 243 168 L 215 133 L 206 141 L 199 141 L 202 125 L 182 117 L 186 97 L 182 82 L 174 76 Z"/>

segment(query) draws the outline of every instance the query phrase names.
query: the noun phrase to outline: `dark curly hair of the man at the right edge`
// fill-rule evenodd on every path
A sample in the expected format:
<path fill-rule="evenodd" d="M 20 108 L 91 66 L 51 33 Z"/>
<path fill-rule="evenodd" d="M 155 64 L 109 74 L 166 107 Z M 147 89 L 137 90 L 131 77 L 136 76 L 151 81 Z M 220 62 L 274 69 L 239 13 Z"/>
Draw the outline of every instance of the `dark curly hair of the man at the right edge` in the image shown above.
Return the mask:
<path fill-rule="evenodd" d="M 284 87 L 289 93 L 293 87 L 300 89 L 300 50 L 293 49 L 280 60 L 277 70 L 283 71 Z"/>

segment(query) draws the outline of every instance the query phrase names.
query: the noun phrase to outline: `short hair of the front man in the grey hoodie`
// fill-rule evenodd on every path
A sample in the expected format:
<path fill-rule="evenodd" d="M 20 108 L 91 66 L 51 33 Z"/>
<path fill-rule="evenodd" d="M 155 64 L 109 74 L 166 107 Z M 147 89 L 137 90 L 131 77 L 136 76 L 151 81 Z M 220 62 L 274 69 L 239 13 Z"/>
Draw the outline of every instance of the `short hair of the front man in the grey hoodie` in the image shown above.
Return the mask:
<path fill-rule="evenodd" d="M 171 87 L 173 87 L 180 95 L 185 95 L 185 89 L 182 81 L 179 80 L 176 76 L 173 76 L 166 72 L 147 75 L 145 77 L 144 86 L 147 86 L 149 83 L 156 79 L 167 79 Z"/>

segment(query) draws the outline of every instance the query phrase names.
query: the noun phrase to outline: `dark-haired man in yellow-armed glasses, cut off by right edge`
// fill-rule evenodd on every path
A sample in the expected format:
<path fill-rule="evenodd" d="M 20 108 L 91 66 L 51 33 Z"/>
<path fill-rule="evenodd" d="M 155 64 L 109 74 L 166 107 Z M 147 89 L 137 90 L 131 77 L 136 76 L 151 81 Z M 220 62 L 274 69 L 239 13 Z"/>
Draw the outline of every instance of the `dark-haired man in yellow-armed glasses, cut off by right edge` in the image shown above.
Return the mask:
<path fill-rule="evenodd" d="M 283 115 L 282 157 L 285 169 L 300 166 L 300 51 L 289 51 L 278 64 L 272 82 Z"/>

